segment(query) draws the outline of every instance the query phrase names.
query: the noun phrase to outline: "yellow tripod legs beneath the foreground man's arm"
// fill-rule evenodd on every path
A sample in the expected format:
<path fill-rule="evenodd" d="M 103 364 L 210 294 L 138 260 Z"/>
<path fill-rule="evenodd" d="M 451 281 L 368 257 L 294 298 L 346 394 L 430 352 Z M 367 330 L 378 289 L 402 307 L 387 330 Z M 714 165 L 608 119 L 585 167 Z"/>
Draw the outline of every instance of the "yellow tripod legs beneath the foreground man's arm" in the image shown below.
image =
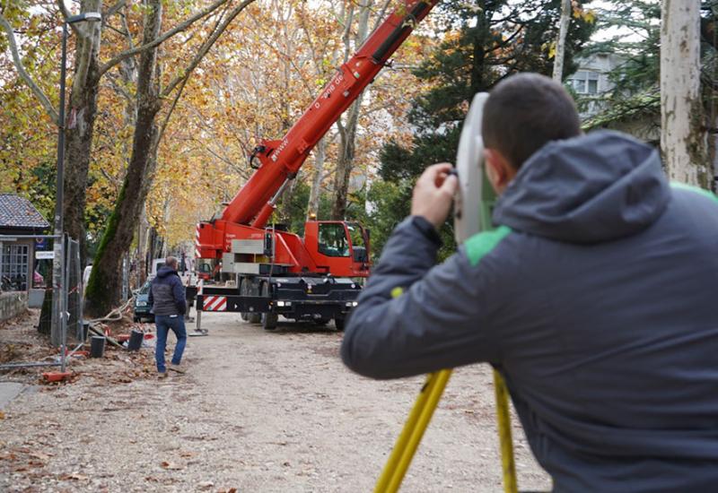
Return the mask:
<path fill-rule="evenodd" d="M 416 448 L 424 437 L 433 411 L 442 398 L 443 389 L 449 382 L 450 369 L 437 371 L 426 377 L 426 382 L 416 399 L 414 407 L 409 413 L 407 423 L 401 430 L 394 450 L 381 471 L 381 477 L 376 483 L 374 493 L 395 493 L 398 491 L 411 460 L 414 458 Z M 494 370 L 494 386 L 496 393 L 496 416 L 498 419 L 499 442 L 501 444 L 501 462 L 503 469 L 503 491 L 516 493 L 516 467 L 513 462 L 513 442 L 511 433 L 511 418 L 509 416 L 509 399 L 506 384 L 502 376 Z"/>

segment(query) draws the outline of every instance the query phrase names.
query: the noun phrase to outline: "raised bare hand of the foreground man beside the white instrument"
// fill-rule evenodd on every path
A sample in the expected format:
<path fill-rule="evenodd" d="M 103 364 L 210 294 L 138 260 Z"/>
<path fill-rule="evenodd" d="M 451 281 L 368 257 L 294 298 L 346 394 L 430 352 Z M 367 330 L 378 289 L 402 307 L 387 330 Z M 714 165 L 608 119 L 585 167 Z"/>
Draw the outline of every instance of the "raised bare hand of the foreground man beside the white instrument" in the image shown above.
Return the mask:
<path fill-rule="evenodd" d="M 421 216 L 439 229 L 446 221 L 451 209 L 459 180 L 451 175 L 452 166 L 442 162 L 425 169 L 414 186 L 414 195 L 411 199 L 411 215 Z"/>

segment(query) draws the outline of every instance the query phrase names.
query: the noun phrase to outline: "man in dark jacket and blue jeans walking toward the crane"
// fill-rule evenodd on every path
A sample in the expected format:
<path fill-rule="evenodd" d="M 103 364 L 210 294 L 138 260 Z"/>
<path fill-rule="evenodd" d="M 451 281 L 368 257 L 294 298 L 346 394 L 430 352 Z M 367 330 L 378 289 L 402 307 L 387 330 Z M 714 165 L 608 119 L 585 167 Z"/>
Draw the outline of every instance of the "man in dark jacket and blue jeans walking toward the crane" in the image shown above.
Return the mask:
<path fill-rule="evenodd" d="M 177 345 L 174 348 L 170 369 L 178 373 L 185 372 L 184 368 L 180 367 L 180 363 L 187 343 L 184 320 L 187 300 L 180 274 L 177 273 L 177 264 L 177 258 L 168 256 L 164 266 L 157 271 L 150 290 L 149 302 L 153 307 L 154 323 L 157 325 L 157 345 L 154 349 L 154 359 L 157 362 L 160 378 L 167 376 L 164 349 L 167 346 L 167 334 L 170 329 L 177 336 Z"/>

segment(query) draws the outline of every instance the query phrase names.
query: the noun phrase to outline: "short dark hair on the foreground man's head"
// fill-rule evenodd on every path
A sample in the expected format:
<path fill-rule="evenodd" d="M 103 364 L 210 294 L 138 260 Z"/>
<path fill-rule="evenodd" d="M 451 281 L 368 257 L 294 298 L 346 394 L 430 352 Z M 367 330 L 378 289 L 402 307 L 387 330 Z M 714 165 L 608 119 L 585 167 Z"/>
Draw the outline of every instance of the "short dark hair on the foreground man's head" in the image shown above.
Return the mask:
<path fill-rule="evenodd" d="M 540 74 L 516 74 L 496 84 L 481 122 L 484 145 L 515 169 L 550 141 L 581 134 L 574 99 L 559 82 Z"/>

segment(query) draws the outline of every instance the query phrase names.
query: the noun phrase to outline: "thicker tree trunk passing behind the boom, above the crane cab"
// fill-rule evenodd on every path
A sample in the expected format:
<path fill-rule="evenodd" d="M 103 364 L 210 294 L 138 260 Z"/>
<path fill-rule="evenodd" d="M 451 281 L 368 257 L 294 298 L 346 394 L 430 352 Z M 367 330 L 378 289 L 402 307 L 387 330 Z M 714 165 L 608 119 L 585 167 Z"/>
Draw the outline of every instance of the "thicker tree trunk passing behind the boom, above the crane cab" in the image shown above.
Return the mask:
<path fill-rule="evenodd" d="M 369 14 L 372 11 L 372 0 L 364 0 L 359 13 L 359 25 L 355 36 L 355 49 L 359 48 L 366 39 L 369 30 Z M 346 31 L 348 34 L 348 30 Z M 349 39 L 345 37 L 345 62 L 349 55 Z M 362 109 L 363 92 L 346 112 L 346 125 L 341 118 L 337 120 L 339 128 L 339 159 L 334 175 L 334 204 L 332 205 L 331 219 L 343 221 L 346 216 L 346 201 L 349 192 L 349 178 L 352 175 L 355 158 L 356 127 L 359 125 L 359 112 Z"/>

